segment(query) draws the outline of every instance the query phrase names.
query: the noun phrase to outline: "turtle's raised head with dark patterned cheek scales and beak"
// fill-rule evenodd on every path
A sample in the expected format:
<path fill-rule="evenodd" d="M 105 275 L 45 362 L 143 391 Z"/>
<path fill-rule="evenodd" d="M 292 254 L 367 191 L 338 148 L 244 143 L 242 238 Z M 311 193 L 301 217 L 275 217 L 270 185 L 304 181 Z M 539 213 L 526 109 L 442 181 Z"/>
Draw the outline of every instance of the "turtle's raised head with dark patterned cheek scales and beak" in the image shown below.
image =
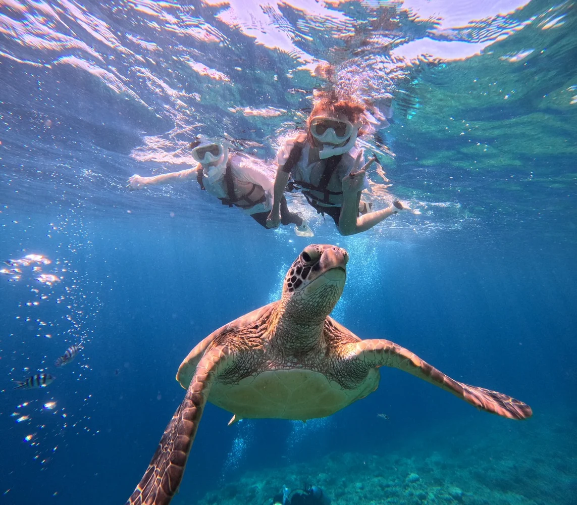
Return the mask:
<path fill-rule="evenodd" d="M 312 244 L 294 260 L 284 278 L 282 304 L 301 321 L 324 320 L 343 293 L 349 254 L 334 245 Z"/>

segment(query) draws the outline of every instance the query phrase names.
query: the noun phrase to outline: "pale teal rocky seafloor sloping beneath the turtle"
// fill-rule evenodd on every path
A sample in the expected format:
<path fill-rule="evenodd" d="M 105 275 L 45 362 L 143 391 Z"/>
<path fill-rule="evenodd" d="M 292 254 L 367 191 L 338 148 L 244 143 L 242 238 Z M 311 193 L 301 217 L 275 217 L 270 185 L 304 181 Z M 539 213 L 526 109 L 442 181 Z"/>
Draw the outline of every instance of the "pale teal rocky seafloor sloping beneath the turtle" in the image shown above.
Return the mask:
<path fill-rule="evenodd" d="M 249 471 L 199 505 L 265 505 L 280 491 L 319 485 L 332 505 L 575 505 L 577 418 L 429 429 L 392 451 L 332 452 L 317 461 Z M 380 436 L 381 435 L 381 436 Z M 394 433 L 376 433 L 376 447 Z M 373 448 L 374 450 L 374 448 Z M 186 478 L 186 476 L 185 476 Z"/>

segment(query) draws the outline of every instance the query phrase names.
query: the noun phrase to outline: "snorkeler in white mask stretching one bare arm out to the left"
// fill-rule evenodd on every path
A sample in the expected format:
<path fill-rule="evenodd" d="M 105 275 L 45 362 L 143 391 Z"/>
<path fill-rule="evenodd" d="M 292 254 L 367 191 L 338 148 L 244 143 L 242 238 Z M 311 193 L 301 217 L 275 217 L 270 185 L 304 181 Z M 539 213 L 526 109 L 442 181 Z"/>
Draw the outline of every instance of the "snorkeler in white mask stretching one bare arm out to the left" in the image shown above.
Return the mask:
<path fill-rule="evenodd" d="M 153 177 L 133 175 L 128 179 L 128 187 L 141 189 L 149 185 L 196 179 L 201 189 L 217 197 L 223 205 L 241 208 L 259 225 L 267 228 L 267 217 L 273 207 L 273 182 L 264 170 L 258 168 L 263 162 L 229 149 L 226 143 L 197 138 L 190 143 L 190 148 L 193 159 L 198 163 L 196 167 Z M 313 231 L 302 216 L 288 210 L 282 193 L 276 209 L 277 212 L 280 209 L 280 222 L 283 225 L 293 223 L 295 234 L 299 237 L 313 237 Z"/>

